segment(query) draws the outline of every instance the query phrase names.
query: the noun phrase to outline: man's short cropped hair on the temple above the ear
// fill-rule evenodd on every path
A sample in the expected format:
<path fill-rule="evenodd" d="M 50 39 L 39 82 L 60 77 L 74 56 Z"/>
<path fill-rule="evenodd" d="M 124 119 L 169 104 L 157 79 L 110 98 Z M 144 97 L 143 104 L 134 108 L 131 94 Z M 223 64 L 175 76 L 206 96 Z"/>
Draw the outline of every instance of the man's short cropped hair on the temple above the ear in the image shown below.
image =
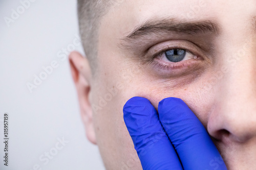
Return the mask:
<path fill-rule="evenodd" d="M 98 29 L 100 19 L 115 0 L 77 0 L 77 12 L 80 36 L 84 52 L 89 59 L 92 70 L 96 67 Z"/>

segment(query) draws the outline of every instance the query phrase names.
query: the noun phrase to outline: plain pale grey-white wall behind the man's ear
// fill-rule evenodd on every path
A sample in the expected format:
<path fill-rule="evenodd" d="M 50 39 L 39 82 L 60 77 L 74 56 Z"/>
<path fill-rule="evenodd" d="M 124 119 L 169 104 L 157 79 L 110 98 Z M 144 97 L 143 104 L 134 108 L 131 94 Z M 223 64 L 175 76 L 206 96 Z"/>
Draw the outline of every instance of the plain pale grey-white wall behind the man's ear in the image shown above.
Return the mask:
<path fill-rule="evenodd" d="M 76 1 L 36 0 L 27 9 L 20 6 L 19 0 L 0 0 L 0 169 L 33 169 L 35 164 L 54 170 L 104 169 L 98 148 L 83 129 L 68 58 L 58 58 L 67 57 L 62 48 L 71 48 L 74 40 L 82 52 L 76 39 Z M 12 9 L 17 8 L 21 14 L 15 18 Z M 13 19 L 9 27 L 4 17 Z M 30 92 L 26 84 L 54 60 L 58 67 Z M 5 112 L 8 167 L 3 165 Z M 69 142 L 54 149 L 62 137 Z M 47 162 L 44 154 L 49 151 L 57 153 Z"/>

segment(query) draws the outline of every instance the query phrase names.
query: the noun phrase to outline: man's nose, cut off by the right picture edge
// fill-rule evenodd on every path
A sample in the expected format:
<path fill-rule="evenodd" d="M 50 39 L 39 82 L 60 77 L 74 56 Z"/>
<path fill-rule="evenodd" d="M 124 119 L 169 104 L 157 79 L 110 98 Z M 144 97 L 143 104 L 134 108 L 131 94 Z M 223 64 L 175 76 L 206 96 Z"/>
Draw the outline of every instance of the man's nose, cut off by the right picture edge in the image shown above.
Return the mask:
<path fill-rule="evenodd" d="M 253 58 L 253 51 L 251 48 L 244 56 L 233 58 L 232 63 L 226 62 L 228 71 L 214 87 L 216 96 L 207 130 L 223 142 L 256 138 L 256 56 Z"/>

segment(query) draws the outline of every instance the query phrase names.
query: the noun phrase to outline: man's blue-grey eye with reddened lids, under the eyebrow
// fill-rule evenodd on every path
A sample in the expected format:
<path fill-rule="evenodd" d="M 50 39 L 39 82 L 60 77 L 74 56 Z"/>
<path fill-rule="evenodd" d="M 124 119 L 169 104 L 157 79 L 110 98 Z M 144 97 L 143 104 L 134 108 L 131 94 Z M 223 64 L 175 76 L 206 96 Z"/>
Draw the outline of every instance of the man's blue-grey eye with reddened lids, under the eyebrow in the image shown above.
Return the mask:
<path fill-rule="evenodd" d="M 198 46 L 186 41 L 168 41 L 153 46 L 150 50 L 151 61 L 157 71 L 163 73 L 184 73 L 203 65 L 205 59 Z"/>

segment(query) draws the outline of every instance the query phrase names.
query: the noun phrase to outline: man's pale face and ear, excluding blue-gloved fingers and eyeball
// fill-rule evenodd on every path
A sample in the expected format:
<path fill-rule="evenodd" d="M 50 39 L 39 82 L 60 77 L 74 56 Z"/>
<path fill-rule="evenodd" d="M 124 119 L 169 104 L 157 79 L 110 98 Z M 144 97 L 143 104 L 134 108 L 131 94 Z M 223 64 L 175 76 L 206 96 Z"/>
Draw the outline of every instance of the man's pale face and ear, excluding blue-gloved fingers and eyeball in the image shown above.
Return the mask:
<path fill-rule="evenodd" d="M 134 96 L 156 109 L 162 99 L 182 99 L 228 169 L 255 167 L 256 2 L 119 2 L 100 21 L 96 74 L 70 55 L 87 137 L 106 169 L 142 169 L 122 112 Z M 177 48 L 186 59 L 168 61 L 165 52 Z"/>

